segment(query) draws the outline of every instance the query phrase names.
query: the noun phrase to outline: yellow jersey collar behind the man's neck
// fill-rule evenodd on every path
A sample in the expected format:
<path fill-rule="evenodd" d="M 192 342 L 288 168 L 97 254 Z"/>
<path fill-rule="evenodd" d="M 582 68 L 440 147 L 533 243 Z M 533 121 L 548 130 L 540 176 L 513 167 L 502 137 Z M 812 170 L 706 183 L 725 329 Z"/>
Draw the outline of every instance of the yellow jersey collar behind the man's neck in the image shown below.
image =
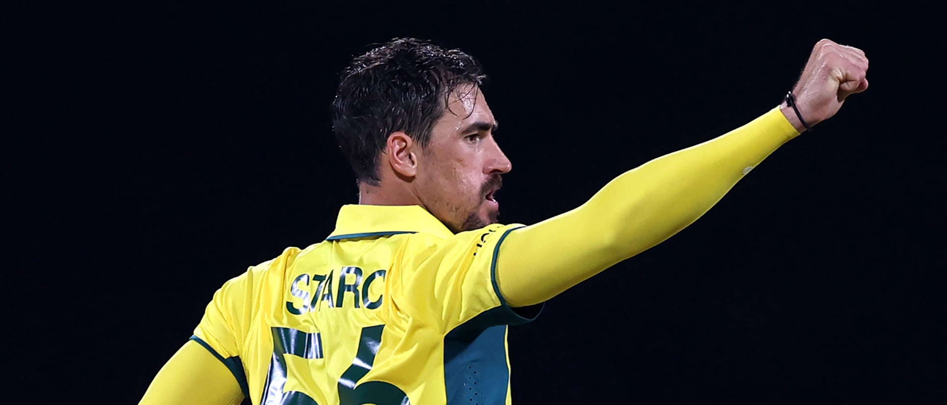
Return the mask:
<path fill-rule="evenodd" d="M 440 238 L 454 236 L 454 232 L 420 206 L 348 204 L 339 210 L 335 230 L 326 240 L 338 241 L 399 233 L 428 233 Z"/>

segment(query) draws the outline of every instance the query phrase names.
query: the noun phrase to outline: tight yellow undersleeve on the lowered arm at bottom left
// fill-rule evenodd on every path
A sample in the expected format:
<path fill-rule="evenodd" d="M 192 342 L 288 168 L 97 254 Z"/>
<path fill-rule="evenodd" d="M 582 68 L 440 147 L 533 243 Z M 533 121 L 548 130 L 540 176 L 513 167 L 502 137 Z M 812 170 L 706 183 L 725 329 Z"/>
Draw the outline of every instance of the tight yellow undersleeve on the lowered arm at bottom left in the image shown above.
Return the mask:
<path fill-rule="evenodd" d="M 197 342 L 188 341 L 158 371 L 141 405 L 236 405 L 241 387 L 230 370 Z"/>

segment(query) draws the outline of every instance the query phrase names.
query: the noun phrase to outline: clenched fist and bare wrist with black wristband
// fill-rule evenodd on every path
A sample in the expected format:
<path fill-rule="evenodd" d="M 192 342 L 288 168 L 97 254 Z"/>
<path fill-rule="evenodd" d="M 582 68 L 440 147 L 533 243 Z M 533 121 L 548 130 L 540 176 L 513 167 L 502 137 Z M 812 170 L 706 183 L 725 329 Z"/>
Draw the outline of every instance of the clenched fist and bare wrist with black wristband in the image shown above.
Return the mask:
<path fill-rule="evenodd" d="M 815 43 L 806 67 L 795 83 L 795 105 L 810 127 L 831 118 L 846 97 L 868 88 L 868 59 L 865 52 L 830 40 Z M 783 102 L 782 113 L 802 132 L 805 127 L 795 111 Z"/>

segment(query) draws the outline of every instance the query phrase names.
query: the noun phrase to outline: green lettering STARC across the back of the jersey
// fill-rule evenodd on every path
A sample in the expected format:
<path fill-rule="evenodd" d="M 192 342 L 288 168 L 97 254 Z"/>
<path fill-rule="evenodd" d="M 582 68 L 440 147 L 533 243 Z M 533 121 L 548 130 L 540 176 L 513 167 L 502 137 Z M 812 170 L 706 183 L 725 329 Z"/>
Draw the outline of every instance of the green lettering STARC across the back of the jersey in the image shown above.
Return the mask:
<path fill-rule="evenodd" d="M 376 284 L 376 290 L 381 291 L 379 287 L 384 286 L 384 270 L 366 275 L 359 267 L 346 266 L 339 270 L 337 277 L 334 277 L 334 273 L 335 269 L 332 269 L 329 274 L 301 274 L 296 277 L 290 284 L 290 295 L 298 299 L 286 301 L 286 311 L 301 315 L 321 307 L 364 307 L 374 310 L 382 306 L 382 294 L 373 297 L 369 290 L 372 282 L 382 278 Z"/>

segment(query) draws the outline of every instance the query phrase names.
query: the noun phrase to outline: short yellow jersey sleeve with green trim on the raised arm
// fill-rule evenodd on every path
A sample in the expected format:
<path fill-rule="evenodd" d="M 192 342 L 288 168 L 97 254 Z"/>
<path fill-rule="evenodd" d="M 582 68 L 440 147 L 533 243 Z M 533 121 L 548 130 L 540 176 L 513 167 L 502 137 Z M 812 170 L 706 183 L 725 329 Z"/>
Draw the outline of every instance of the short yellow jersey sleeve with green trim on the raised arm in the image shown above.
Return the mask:
<path fill-rule="evenodd" d="M 413 235 L 417 239 L 399 260 L 399 305 L 445 333 L 461 325 L 485 329 L 532 321 L 543 304 L 513 309 L 496 281 L 499 246 L 509 231 L 521 227 L 494 224 L 444 240 Z"/>

